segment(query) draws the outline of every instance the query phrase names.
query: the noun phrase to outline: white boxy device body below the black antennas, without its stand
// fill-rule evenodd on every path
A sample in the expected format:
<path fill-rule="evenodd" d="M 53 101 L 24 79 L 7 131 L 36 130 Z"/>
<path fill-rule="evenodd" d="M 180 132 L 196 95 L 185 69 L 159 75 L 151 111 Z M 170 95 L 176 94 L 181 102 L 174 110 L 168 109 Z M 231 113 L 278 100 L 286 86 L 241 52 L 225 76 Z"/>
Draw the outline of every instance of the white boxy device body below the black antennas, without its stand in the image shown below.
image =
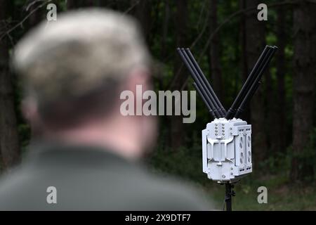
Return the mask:
<path fill-rule="evenodd" d="M 203 172 L 218 183 L 235 183 L 252 172 L 251 124 L 218 118 L 202 131 Z"/>

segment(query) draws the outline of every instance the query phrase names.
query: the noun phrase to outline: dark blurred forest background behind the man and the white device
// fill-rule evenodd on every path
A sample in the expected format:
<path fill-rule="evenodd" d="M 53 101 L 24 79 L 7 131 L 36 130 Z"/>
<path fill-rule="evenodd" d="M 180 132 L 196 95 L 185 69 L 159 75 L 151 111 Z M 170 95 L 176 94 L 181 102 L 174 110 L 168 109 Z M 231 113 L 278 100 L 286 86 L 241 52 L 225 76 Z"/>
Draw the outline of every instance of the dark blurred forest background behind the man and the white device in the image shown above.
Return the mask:
<path fill-rule="evenodd" d="M 279 50 L 242 118 L 253 126 L 254 172 L 235 186 L 233 210 L 316 210 L 316 1 L 257 0 L 0 0 L 0 173 L 20 162 L 32 137 L 20 112 L 23 84 L 9 70 L 18 40 L 58 13 L 106 7 L 135 16 L 158 62 L 155 90 L 194 90 L 176 47 L 190 47 L 226 109 L 265 44 Z M 258 4 L 268 6 L 259 21 Z M 53 22 L 51 22 L 53 23 Z M 153 172 L 194 182 L 222 207 L 225 188 L 202 172 L 201 131 L 211 122 L 197 97 L 197 120 L 159 117 L 157 148 L 145 160 Z M 258 204 L 257 188 L 268 188 Z"/>

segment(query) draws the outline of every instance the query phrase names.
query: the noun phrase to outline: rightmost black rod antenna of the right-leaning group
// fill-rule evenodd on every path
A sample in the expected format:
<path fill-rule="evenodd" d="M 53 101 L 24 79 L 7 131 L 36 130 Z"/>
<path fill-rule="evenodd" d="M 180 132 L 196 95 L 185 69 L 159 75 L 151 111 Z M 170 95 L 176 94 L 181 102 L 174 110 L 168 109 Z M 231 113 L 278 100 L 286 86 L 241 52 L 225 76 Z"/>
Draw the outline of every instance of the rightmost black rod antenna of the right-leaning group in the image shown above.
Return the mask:
<path fill-rule="evenodd" d="M 276 51 L 277 51 L 277 46 L 273 46 L 272 49 L 270 49 L 270 51 L 268 52 L 268 55 L 265 57 L 266 58 L 265 63 L 261 67 L 261 70 L 258 72 L 258 76 L 256 77 L 254 83 L 251 85 L 249 91 L 247 92 L 246 96 L 244 97 L 244 100 L 240 104 L 235 114 L 236 118 L 238 118 L 239 115 L 244 111 L 246 103 L 248 103 L 250 99 L 252 98 L 252 96 L 254 96 L 254 94 L 256 93 L 256 90 L 258 89 L 258 86 L 260 85 L 260 80 L 263 75 L 263 72 L 265 71 L 265 68 L 268 67 L 268 64 L 270 63 L 272 56 L 275 54 Z"/>

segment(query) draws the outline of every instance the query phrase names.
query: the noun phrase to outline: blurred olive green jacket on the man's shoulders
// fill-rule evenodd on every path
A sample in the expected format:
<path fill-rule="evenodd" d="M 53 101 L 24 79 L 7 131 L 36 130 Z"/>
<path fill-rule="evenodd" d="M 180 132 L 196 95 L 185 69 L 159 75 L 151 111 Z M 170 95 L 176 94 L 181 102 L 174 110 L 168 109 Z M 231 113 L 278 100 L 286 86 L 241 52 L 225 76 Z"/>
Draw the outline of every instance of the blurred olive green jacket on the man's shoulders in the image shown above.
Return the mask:
<path fill-rule="evenodd" d="M 211 210 L 174 179 L 108 150 L 41 143 L 0 179 L 0 210 Z"/>

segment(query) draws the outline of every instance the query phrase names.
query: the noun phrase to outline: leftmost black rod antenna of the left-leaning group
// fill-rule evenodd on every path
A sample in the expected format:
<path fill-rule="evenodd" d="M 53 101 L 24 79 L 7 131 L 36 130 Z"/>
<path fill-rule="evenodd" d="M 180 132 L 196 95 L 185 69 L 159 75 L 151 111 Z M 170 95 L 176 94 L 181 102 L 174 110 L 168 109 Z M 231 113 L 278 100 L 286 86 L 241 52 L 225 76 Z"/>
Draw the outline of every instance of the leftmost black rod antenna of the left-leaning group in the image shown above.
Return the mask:
<path fill-rule="evenodd" d="M 185 54 L 185 51 L 181 51 L 180 48 L 177 49 L 180 57 L 183 60 L 183 63 L 185 63 L 187 69 L 190 71 L 190 74 L 192 75 L 192 78 L 195 80 L 195 86 L 197 86 L 197 91 L 199 92 L 199 95 L 202 96 L 202 99 L 204 99 L 204 102 L 206 103 L 206 106 L 210 108 L 210 113 L 213 115 L 213 117 L 218 118 L 220 117 L 220 113 L 218 113 L 218 110 L 216 109 L 215 105 L 213 104 L 213 101 L 211 101 L 211 98 L 209 94 L 206 93 L 206 86 L 204 84 L 201 84 L 197 77 L 197 71 L 195 68 L 191 65 L 192 63 L 190 60 L 188 60 L 188 57 Z"/>

